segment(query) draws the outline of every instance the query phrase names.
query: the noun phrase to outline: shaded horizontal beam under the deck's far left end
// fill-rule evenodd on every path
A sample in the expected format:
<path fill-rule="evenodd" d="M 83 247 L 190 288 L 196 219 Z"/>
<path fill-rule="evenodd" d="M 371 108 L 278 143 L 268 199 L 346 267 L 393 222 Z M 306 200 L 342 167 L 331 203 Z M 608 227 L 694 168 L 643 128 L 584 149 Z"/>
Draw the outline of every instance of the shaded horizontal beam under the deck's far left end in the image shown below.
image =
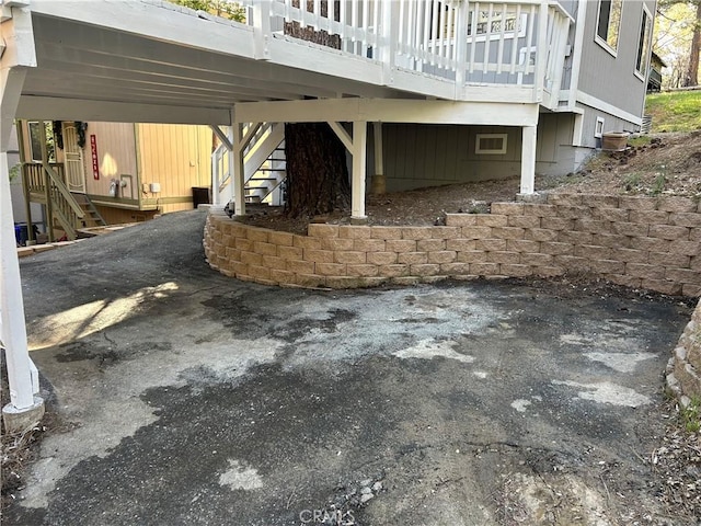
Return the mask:
<path fill-rule="evenodd" d="M 229 126 L 227 108 L 133 102 L 87 101 L 23 95 L 16 118 L 46 121 L 97 121 L 112 123 L 215 124 Z"/>

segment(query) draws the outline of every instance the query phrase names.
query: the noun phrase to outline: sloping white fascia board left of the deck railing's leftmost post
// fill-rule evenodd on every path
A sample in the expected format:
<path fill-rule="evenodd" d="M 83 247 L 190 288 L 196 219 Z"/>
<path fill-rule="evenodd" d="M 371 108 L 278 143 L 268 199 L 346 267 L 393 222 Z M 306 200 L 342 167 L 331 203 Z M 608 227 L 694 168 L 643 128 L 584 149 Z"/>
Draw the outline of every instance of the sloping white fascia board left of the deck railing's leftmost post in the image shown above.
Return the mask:
<path fill-rule="evenodd" d="M 36 14 L 135 33 L 147 38 L 253 58 L 253 27 L 227 20 L 205 20 L 177 5 L 137 1 L 32 0 Z"/>

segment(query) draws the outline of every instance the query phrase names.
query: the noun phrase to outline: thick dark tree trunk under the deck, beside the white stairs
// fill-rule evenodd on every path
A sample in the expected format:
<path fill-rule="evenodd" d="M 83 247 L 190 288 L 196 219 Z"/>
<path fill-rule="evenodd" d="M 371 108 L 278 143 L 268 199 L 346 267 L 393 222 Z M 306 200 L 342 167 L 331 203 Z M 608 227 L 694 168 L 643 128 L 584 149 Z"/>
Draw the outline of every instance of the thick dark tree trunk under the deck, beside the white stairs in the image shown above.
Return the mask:
<path fill-rule="evenodd" d="M 346 150 L 326 123 L 286 124 L 285 157 L 290 217 L 348 209 Z"/>

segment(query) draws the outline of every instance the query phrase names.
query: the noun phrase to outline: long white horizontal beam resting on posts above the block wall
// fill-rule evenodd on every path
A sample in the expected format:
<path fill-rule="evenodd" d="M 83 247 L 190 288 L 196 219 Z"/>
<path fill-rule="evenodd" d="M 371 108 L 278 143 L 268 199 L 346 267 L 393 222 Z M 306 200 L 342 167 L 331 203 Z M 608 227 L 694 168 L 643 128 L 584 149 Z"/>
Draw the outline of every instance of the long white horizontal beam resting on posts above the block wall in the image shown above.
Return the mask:
<path fill-rule="evenodd" d="M 382 122 L 536 126 L 538 104 L 417 101 L 397 99 L 326 99 L 249 102 L 235 105 L 240 123 Z"/>

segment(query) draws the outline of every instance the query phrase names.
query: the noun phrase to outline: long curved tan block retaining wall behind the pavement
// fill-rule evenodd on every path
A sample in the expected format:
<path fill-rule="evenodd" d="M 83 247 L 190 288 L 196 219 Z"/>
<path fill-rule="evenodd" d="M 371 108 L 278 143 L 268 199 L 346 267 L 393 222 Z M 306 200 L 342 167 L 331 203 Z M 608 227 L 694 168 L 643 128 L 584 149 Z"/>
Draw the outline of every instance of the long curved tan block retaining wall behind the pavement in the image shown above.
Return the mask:
<path fill-rule="evenodd" d="M 268 285 L 353 288 L 447 277 L 591 274 L 701 296 L 701 210 L 686 197 L 549 194 L 449 214 L 446 226 L 309 226 L 308 236 L 212 211 L 205 253 L 221 273 Z"/>

